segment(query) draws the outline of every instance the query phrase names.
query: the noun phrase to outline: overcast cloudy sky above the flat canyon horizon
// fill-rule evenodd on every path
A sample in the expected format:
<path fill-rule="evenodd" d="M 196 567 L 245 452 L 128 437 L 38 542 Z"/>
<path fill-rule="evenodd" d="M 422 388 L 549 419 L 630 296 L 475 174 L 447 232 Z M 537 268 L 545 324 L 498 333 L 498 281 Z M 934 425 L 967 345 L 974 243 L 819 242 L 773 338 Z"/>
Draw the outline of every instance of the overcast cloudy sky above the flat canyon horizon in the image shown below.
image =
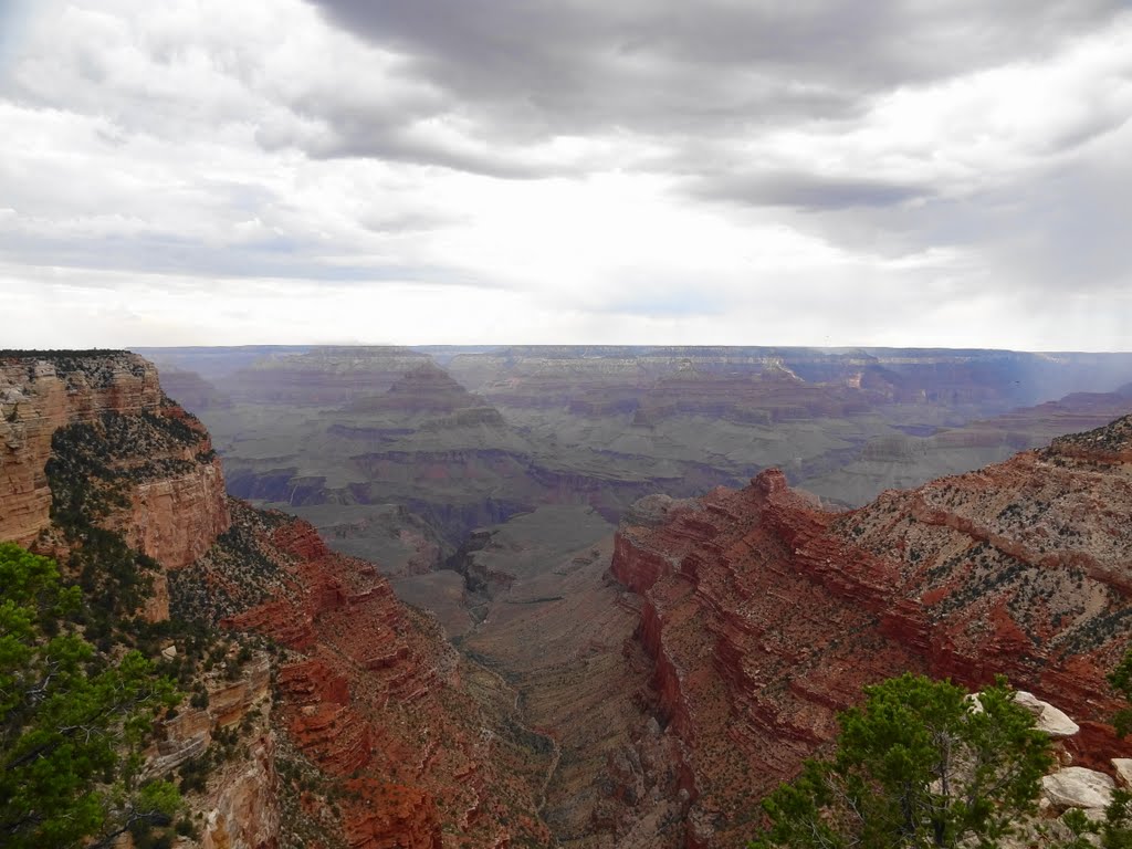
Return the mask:
<path fill-rule="evenodd" d="M 1132 3 L 0 0 L 0 348 L 1132 350 Z"/>

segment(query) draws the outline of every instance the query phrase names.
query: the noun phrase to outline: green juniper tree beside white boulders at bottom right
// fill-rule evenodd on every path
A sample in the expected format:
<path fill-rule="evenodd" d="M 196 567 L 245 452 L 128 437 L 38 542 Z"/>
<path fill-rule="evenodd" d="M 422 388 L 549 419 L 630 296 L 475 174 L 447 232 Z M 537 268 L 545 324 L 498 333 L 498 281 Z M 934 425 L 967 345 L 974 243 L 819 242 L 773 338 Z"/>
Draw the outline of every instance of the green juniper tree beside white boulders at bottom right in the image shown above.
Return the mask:
<path fill-rule="evenodd" d="M 1000 680 L 978 696 L 904 675 L 839 714 L 827 760 L 764 801 L 751 849 L 987 849 L 1034 812 L 1049 740 Z"/>

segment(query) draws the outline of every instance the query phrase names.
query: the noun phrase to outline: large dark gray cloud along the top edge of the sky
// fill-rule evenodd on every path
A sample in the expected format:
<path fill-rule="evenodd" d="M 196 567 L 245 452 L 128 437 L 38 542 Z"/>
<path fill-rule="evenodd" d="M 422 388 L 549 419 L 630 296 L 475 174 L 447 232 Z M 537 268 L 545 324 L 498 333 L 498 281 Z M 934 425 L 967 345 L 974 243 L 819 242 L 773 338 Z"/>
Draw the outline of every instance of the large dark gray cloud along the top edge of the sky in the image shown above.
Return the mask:
<path fill-rule="evenodd" d="M 1121 0 L 311 0 L 401 52 L 487 134 L 714 134 L 837 117 L 893 86 L 1041 57 Z"/>

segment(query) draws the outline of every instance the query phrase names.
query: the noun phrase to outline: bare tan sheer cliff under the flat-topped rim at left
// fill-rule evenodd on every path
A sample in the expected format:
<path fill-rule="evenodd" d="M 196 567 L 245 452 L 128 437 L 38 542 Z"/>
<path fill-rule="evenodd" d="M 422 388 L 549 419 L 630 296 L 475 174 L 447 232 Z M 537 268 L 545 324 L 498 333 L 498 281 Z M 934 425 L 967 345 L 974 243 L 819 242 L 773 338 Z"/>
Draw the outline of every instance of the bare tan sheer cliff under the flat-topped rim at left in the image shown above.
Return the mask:
<path fill-rule="evenodd" d="M 121 436 L 96 458 L 125 472 L 105 524 L 166 569 L 192 563 L 228 529 L 208 434 L 164 396 L 151 363 L 127 352 L 44 354 L 0 359 L 0 539 L 29 544 L 51 526 L 46 466 L 68 428 Z"/>

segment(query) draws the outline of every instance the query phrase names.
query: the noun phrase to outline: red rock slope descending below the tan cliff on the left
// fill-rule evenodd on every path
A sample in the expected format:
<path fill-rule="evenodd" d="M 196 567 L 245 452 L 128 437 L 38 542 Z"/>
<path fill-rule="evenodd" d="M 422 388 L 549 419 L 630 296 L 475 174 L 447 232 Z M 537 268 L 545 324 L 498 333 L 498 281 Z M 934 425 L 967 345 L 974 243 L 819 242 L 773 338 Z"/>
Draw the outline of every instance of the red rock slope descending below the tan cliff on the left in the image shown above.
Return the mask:
<path fill-rule="evenodd" d="M 342 782 L 346 844 L 547 844 L 534 800 L 546 765 L 468 694 L 435 619 L 401 604 L 371 564 L 332 552 L 309 523 L 239 503 L 232 515 L 224 544 L 261 559 L 241 574 L 223 552 L 201 558 L 178 573 L 174 608 L 223 614 L 224 627 L 290 650 L 278 726 Z"/>

